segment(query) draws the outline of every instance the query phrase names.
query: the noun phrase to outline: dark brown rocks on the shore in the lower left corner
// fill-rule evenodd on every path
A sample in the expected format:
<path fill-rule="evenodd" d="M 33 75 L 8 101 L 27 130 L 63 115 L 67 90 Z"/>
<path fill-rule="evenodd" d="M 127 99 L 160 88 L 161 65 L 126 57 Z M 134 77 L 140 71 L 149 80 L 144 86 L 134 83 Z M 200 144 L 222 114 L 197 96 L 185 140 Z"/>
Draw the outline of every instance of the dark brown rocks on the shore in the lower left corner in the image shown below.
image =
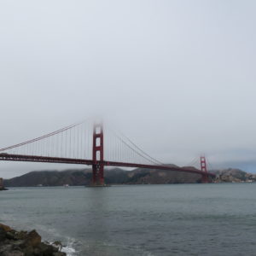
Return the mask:
<path fill-rule="evenodd" d="M 16 231 L 9 226 L 0 224 L 0 255 L 1 256 L 65 256 L 61 251 L 61 243 L 53 245 L 42 242 L 36 230 L 30 232 Z"/>

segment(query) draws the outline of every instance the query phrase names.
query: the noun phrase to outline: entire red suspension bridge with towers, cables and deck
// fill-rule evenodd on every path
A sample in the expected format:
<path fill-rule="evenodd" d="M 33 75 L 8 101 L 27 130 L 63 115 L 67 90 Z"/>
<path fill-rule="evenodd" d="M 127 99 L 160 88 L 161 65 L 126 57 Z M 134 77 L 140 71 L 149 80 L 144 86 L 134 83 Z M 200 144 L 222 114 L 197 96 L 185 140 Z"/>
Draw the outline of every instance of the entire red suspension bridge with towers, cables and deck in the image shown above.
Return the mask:
<path fill-rule="evenodd" d="M 205 156 L 200 158 L 201 169 L 168 166 L 154 159 L 128 137 L 119 134 L 102 122 L 86 120 L 69 125 L 44 136 L 0 148 L 0 160 L 44 163 L 64 163 L 92 166 L 92 186 L 104 186 L 104 166 L 139 167 L 166 171 L 190 172 L 201 175 L 208 183 Z"/>

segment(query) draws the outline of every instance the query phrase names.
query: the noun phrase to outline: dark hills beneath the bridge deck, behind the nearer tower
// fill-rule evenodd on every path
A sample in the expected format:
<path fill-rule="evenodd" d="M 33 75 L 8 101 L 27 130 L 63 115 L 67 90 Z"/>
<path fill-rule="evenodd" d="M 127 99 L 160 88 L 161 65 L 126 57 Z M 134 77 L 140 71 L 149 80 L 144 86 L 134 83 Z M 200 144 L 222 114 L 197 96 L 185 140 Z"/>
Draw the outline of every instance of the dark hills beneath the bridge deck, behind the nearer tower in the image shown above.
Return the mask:
<path fill-rule="evenodd" d="M 193 167 L 191 167 L 193 168 Z M 88 185 L 91 181 L 91 169 L 72 169 L 65 171 L 36 171 L 20 177 L 4 180 L 6 187 L 71 186 Z M 201 175 L 187 172 L 160 171 L 137 168 L 125 171 L 119 168 L 105 170 L 105 182 L 112 184 L 169 184 L 201 183 Z"/>

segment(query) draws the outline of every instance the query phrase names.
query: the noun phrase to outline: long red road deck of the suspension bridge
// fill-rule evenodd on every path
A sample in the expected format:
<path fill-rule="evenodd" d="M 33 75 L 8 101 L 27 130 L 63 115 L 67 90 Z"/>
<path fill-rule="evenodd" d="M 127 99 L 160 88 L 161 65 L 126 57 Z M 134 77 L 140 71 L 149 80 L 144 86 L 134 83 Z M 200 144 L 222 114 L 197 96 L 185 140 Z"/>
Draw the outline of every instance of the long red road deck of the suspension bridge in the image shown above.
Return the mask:
<path fill-rule="evenodd" d="M 71 158 L 60 158 L 60 157 L 49 157 L 49 156 L 38 156 L 38 155 L 24 155 L 24 154 L 0 154 L 0 160 L 3 161 L 25 161 L 25 162 L 42 162 L 42 163 L 62 163 L 62 164 L 76 164 L 76 165 L 87 165 L 92 166 L 95 164 L 93 160 L 84 159 L 71 159 Z M 114 162 L 114 161 L 97 161 L 96 164 L 104 166 L 119 166 L 119 167 L 134 167 L 134 168 L 145 168 L 145 169 L 159 169 L 166 171 L 177 171 L 177 172 L 190 172 L 200 175 L 206 175 L 206 172 L 201 172 L 194 167 L 176 167 L 176 166 L 154 166 L 154 165 L 143 165 L 135 163 L 125 162 Z M 207 176 L 215 177 L 216 175 L 212 172 L 207 172 Z"/>

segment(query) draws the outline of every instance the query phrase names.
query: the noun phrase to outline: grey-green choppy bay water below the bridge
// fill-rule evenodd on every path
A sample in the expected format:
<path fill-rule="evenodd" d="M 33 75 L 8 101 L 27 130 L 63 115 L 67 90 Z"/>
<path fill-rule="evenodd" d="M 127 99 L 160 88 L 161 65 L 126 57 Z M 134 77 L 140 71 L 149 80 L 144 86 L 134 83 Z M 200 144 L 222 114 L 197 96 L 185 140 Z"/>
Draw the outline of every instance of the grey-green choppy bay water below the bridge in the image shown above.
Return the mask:
<path fill-rule="evenodd" d="M 68 255 L 256 255 L 256 183 L 15 188 L 0 222 Z"/>

